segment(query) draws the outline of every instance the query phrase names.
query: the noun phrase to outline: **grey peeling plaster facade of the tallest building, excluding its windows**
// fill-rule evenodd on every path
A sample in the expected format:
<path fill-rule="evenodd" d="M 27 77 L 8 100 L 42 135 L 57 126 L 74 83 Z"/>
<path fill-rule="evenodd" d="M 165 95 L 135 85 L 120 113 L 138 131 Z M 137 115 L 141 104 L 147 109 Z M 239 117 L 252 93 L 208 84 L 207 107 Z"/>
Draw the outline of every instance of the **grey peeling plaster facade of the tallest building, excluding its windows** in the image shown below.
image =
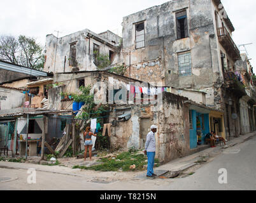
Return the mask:
<path fill-rule="evenodd" d="M 176 40 L 175 12 L 186 8 L 188 36 Z M 123 18 L 124 62 L 129 67 L 131 51 L 131 76 L 135 79 L 164 81 L 164 86 L 207 90 L 206 103 L 218 106 L 218 92 L 223 81 L 220 47 L 215 26 L 214 5 L 211 0 L 169 1 Z M 145 20 L 145 48 L 135 49 L 134 23 Z M 178 53 L 190 51 L 192 75 L 178 75 Z M 142 68 L 143 63 L 160 58 L 160 66 Z M 138 66 L 139 65 L 139 66 Z M 171 72 L 171 74 L 169 73 Z M 129 70 L 125 73 L 129 74 Z M 207 80 L 206 80 L 207 78 Z M 217 92 L 218 95 L 213 95 Z"/>

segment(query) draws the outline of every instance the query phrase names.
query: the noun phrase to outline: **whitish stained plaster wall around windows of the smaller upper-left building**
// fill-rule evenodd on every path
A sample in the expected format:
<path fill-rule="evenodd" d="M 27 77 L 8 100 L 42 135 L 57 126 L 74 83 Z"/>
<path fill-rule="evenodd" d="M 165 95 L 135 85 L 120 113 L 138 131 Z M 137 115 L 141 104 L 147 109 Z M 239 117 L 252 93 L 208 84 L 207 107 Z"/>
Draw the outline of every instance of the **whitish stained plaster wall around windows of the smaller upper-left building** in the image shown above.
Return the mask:
<path fill-rule="evenodd" d="M 93 56 L 93 46 L 94 43 L 99 45 L 99 53 L 103 55 L 109 55 L 109 51 L 114 51 L 115 49 L 110 48 L 106 44 L 103 44 L 93 37 L 87 37 L 87 33 L 90 30 L 82 30 L 75 32 L 68 36 L 57 37 L 52 34 L 46 36 L 46 62 L 44 66 L 45 72 L 71 72 L 74 67 L 69 65 L 70 58 L 70 44 L 76 43 L 76 60 L 78 62 L 79 70 L 97 70 L 96 65 L 94 64 Z M 96 34 L 97 35 L 97 34 Z M 103 38 L 104 39 L 104 38 Z M 107 40 L 106 40 L 107 41 Z M 57 54 L 56 54 L 56 63 L 55 63 L 55 51 L 57 44 Z M 90 44 L 90 47 L 89 47 Z M 89 50 L 90 49 L 90 50 Z M 66 67 L 64 70 L 64 59 L 66 56 Z M 55 70 L 54 70 L 55 64 Z"/>

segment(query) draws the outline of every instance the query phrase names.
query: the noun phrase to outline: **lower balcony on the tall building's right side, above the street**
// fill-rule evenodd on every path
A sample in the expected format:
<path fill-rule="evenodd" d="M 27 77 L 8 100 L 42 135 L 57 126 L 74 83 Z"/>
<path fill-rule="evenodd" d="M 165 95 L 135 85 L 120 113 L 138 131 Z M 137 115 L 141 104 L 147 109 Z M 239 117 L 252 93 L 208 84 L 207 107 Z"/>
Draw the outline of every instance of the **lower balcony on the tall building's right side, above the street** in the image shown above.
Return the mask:
<path fill-rule="evenodd" d="M 239 81 L 238 76 L 234 72 L 224 72 L 224 82 L 225 88 L 236 93 L 239 98 L 247 95 L 243 82 Z"/>

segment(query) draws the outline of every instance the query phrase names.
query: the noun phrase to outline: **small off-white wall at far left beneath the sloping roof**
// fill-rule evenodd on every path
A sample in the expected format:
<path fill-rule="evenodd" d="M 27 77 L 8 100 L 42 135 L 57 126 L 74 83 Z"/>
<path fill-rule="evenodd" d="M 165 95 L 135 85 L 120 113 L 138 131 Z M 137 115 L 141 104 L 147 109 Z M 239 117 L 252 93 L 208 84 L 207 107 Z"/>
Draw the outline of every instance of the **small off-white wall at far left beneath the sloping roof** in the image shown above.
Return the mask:
<path fill-rule="evenodd" d="M 0 87 L 0 110 L 22 107 L 25 95 L 18 90 Z"/>

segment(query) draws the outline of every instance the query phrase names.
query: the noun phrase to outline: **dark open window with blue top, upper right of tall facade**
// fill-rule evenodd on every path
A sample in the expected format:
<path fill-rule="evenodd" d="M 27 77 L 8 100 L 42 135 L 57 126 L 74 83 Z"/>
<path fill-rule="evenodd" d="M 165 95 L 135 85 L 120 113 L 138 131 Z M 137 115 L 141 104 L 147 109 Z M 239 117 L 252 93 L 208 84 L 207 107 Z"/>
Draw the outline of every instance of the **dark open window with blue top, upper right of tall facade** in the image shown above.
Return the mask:
<path fill-rule="evenodd" d="M 176 13 L 177 39 L 188 37 L 187 11 Z"/>

